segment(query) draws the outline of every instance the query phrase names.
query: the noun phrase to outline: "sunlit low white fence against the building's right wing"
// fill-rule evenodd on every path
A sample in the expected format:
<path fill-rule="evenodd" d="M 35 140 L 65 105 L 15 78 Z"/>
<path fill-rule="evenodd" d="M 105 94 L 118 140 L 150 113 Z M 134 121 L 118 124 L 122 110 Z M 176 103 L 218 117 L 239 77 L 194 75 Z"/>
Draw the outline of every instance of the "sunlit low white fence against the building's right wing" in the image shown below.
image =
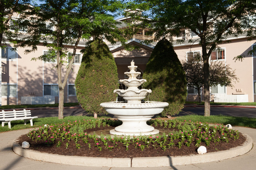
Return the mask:
<path fill-rule="evenodd" d="M 240 103 L 240 102 L 248 102 L 248 95 L 214 95 L 214 102 L 220 103 Z"/>

